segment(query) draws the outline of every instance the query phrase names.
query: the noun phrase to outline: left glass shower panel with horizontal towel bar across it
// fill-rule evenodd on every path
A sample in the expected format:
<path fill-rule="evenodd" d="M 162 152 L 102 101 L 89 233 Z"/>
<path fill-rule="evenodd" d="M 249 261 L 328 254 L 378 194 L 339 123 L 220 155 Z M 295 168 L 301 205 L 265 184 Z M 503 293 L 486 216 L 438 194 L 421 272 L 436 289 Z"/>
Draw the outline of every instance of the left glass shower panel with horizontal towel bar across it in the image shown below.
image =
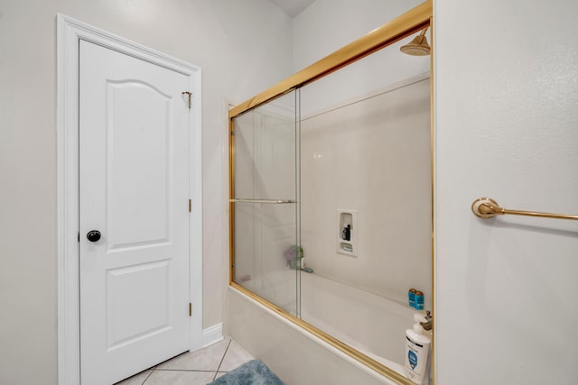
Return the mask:
<path fill-rule="evenodd" d="M 295 92 L 233 120 L 233 281 L 297 314 Z"/>

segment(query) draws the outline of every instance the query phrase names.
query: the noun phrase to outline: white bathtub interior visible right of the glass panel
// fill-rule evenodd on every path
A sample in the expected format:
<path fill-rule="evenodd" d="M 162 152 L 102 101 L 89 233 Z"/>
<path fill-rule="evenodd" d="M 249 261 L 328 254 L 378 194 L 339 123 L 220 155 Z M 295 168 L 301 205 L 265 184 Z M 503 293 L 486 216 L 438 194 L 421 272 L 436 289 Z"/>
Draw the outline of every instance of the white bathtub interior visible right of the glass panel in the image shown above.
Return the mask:
<path fill-rule="evenodd" d="M 405 375 L 406 329 L 415 310 L 313 273 L 301 273 L 303 321 Z"/>

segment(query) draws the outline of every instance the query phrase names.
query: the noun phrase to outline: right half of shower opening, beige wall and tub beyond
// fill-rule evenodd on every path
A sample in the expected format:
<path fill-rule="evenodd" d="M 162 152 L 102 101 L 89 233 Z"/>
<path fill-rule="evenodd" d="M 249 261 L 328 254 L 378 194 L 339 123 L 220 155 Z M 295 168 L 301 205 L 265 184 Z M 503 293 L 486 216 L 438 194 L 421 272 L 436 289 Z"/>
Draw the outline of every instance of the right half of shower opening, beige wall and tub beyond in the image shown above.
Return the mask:
<path fill-rule="evenodd" d="M 404 374 L 405 333 L 432 310 L 429 57 L 413 36 L 299 89 L 300 315 Z"/>

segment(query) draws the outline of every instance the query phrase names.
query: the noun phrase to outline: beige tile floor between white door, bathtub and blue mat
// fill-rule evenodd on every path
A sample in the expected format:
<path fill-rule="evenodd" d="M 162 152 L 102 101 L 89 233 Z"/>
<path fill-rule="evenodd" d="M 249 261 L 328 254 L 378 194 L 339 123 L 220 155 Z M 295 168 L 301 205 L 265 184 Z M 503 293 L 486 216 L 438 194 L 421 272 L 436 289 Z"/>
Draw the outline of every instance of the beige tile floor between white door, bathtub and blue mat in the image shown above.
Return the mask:
<path fill-rule="evenodd" d="M 230 337 L 225 337 L 200 351 L 182 353 L 159 363 L 117 385 L 205 385 L 251 360 L 251 354 Z"/>

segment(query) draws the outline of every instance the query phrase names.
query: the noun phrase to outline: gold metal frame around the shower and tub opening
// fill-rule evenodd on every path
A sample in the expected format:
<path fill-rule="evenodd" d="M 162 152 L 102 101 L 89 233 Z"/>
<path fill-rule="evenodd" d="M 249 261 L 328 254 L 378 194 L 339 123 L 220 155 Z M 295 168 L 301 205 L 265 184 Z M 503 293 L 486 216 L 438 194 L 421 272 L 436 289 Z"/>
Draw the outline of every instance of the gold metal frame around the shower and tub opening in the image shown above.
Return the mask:
<path fill-rule="evenodd" d="M 252 291 L 243 288 L 233 281 L 233 266 L 235 265 L 235 255 L 234 255 L 234 224 L 235 224 L 235 136 L 234 136 L 234 126 L 233 119 L 238 115 L 244 114 L 253 108 L 263 105 L 276 97 L 283 96 L 296 88 L 303 87 L 313 81 L 323 78 L 326 75 L 331 74 L 331 72 L 341 69 L 350 65 L 351 63 L 360 60 L 378 50 L 386 48 L 387 46 L 400 41 L 407 36 L 419 32 L 426 27 L 430 27 L 430 41 L 432 45 L 433 52 L 433 41 L 432 41 L 432 28 L 433 28 L 433 4 L 432 0 L 425 1 L 421 5 L 415 6 L 415 8 L 396 17 L 394 20 L 382 25 L 376 30 L 369 32 L 365 36 L 359 38 L 357 41 L 353 41 L 350 44 L 336 50 L 330 55 L 326 56 L 322 60 L 313 63 L 311 66 L 302 69 L 301 71 L 295 73 L 289 78 L 284 79 L 282 82 L 276 84 L 274 87 L 266 89 L 262 93 L 248 99 L 247 101 L 236 105 L 231 108 L 228 112 L 228 148 L 229 148 L 229 225 L 228 225 L 228 239 L 229 239 L 229 286 L 238 289 L 238 291 L 247 295 L 249 298 L 255 299 L 260 304 L 268 307 L 275 313 L 293 322 L 295 325 L 302 327 L 307 330 L 312 335 L 321 338 L 324 342 L 331 344 L 335 348 L 339 349 L 341 352 L 348 354 L 350 357 L 362 362 L 364 365 L 368 366 L 370 369 L 377 371 L 379 374 L 387 377 L 390 380 L 395 380 L 399 384 L 413 385 L 413 382 L 406 379 L 406 377 L 393 371 L 387 366 L 377 362 L 367 355 L 360 353 L 356 349 L 350 347 L 350 345 L 345 344 L 338 340 L 337 338 L 328 335 L 321 329 L 308 324 L 303 321 L 303 319 L 298 318 L 284 310 L 281 307 L 277 307 L 275 304 L 267 301 L 264 298 L 257 296 Z M 430 70 L 433 69 L 433 53 L 430 60 Z M 432 71 L 431 71 L 432 72 Z M 430 115 L 433 116 L 433 77 L 430 77 L 430 89 L 431 89 L 431 106 Z M 431 143 L 432 143 L 432 230 L 433 230 L 433 119 L 431 122 Z M 432 234 L 432 291 L 433 293 L 433 234 Z M 432 296 L 433 302 L 433 296 Z M 433 346 L 433 341 L 432 341 Z M 432 354 L 432 368 L 433 365 L 433 354 Z M 432 383 L 434 383 L 434 377 L 432 377 Z"/>

